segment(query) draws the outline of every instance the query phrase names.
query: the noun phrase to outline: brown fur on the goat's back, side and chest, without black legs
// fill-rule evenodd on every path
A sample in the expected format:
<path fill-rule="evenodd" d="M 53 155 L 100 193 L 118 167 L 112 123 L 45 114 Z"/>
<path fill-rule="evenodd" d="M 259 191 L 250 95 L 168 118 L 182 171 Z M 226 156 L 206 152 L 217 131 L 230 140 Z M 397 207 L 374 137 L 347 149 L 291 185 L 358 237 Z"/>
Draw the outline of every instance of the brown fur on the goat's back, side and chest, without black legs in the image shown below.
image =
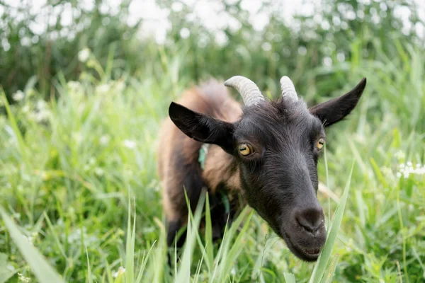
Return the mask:
<path fill-rule="evenodd" d="M 178 103 L 226 122 L 234 122 L 242 115 L 241 106 L 229 96 L 224 84 L 214 80 L 186 91 Z M 210 146 L 205 158 L 205 170 L 200 169 L 198 157 L 201 145 L 183 134 L 166 117 L 159 133 L 158 171 L 168 221 L 186 222 L 187 205 L 183 185 L 188 176 L 202 176 L 203 183 L 212 193 L 222 183 L 229 190 L 240 190 L 239 171 L 230 168 L 233 157 L 219 146 Z"/>

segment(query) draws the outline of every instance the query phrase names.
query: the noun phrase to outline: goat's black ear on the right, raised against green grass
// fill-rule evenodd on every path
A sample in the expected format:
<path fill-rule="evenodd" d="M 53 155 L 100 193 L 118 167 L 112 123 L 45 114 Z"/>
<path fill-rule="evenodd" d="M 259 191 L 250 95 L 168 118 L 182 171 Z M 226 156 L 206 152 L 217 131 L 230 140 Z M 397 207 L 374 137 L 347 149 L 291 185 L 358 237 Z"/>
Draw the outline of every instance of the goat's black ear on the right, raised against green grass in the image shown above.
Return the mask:
<path fill-rule="evenodd" d="M 344 94 L 344 96 L 315 105 L 310 108 L 310 113 L 319 117 L 324 127 L 339 122 L 356 107 L 365 86 L 366 78 L 363 78 L 355 88 Z"/>

